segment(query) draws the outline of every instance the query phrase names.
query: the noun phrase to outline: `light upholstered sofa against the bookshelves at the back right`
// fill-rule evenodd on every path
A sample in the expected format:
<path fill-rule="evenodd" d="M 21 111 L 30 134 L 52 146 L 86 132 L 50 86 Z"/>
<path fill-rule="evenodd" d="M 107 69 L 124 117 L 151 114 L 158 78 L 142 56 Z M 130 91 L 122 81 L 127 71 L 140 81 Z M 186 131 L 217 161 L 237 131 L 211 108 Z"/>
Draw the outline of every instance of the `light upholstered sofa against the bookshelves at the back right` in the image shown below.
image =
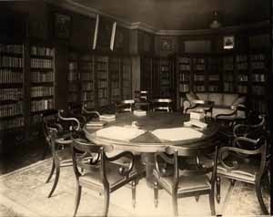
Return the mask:
<path fill-rule="evenodd" d="M 186 94 L 186 99 L 183 102 L 184 113 L 190 111 L 208 111 L 212 118 L 216 118 L 219 115 L 228 115 L 229 117 L 245 117 L 245 96 L 239 96 L 238 94 L 229 93 L 193 93 Z M 205 105 L 195 105 L 193 100 L 213 101 L 214 105 L 211 110 Z M 240 108 L 240 109 L 238 109 Z"/>

